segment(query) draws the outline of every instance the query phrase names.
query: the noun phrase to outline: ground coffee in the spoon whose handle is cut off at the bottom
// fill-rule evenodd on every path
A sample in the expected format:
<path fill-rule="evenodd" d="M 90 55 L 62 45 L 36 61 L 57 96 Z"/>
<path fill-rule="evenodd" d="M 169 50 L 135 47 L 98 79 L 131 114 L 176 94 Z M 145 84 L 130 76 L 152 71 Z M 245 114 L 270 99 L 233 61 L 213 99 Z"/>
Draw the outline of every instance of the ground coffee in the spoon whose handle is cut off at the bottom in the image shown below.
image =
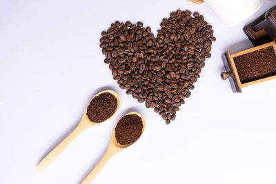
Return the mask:
<path fill-rule="evenodd" d="M 120 119 L 115 127 L 115 137 L 118 143 L 126 145 L 134 143 L 141 136 L 143 123 L 135 114 L 126 115 Z"/>

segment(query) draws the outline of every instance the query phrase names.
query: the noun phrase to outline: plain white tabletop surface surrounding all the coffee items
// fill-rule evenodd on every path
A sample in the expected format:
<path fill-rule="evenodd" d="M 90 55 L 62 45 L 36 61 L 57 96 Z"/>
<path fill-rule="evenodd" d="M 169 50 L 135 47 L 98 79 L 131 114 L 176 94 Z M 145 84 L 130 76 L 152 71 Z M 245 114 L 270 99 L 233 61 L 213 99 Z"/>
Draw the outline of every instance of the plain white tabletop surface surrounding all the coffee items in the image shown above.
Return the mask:
<path fill-rule="evenodd" d="M 276 80 L 235 94 L 221 54 L 253 47 L 242 28 L 275 6 L 227 28 L 206 3 L 159 1 L 1 1 L 0 183 L 81 183 L 101 159 L 120 116 L 146 119 L 141 139 L 113 157 L 96 183 L 276 183 Z M 156 35 L 177 10 L 204 14 L 217 41 L 201 78 L 170 125 L 126 95 L 99 48 L 110 23 L 143 21 Z M 233 10 L 235 11 L 235 10 Z M 101 89 L 121 96 L 112 119 L 83 132 L 43 173 L 37 163 L 77 125 Z"/>

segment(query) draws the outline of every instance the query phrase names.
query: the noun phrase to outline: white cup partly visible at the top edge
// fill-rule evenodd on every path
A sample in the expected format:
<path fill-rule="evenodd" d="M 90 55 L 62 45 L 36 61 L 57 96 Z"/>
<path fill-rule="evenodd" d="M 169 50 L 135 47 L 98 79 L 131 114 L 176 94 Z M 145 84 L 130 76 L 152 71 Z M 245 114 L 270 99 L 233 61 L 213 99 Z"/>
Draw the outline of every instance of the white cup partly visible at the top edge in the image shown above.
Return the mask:
<path fill-rule="evenodd" d="M 205 0 L 228 26 L 241 23 L 264 5 L 264 0 Z"/>

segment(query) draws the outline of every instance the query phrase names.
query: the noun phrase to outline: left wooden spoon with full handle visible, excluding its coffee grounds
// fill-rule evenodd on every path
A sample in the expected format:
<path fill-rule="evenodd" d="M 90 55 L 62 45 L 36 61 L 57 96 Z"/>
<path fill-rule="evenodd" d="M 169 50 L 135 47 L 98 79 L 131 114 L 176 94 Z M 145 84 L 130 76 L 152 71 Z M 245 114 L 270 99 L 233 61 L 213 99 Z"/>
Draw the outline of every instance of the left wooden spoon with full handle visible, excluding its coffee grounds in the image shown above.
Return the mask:
<path fill-rule="evenodd" d="M 98 94 L 96 94 L 92 99 L 94 99 L 96 96 L 99 96 L 99 94 L 102 93 L 110 93 L 113 96 L 115 96 L 115 98 L 117 99 L 117 108 L 114 112 L 114 114 L 117 112 L 118 108 L 119 108 L 119 104 L 120 104 L 120 98 L 119 95 L 117 94 L 117 92 L 112 91 L 112 90 L 106 90 L 106 91 L 102 91 L 99 92 Z M 91 101 L 92 101 L 91 99 Z M 89 105 L 90 103 L 88 103 Z M 83 132 L 83 130 L 88 129 L 88 127 L 92 127 L 94 125 L 98 125 L 99 123 L 103 123 L 99 122 L 99 123 L 95 123 L 90 121 L 90 119 L 88 119 L 88 116 L 86 115 L 87 113 L 87 107 L 86 110 L 81 118 L 81 121 L 79 122 L 79 124 L 77 125 L 77 127 L 75 128 L 75 130 L 66 137 L 66 139 L 64 139 L 61 143 L 59 143 L 59 145 L 57 145 L 57 147 L 55 147 L 50 153 L 48 153 L 44 159 L 42 159 L 39 164 L 37 165 L 37 171 L 39 172 L 43 172 L 44 170 L 46 170 L 46 168 L 53 162 L 55 161 L 55 159 L 57 159 L 57 156 L 59 156 L 59 154 L 61 154 L 61 152 L 63 150 L 65 150 L 65 148 L 81 133 Z M 114 115 L 112 114 L 112 116 Z M 110 117 L 112 117 L 110 116 Z M 110 119 L 110 117 L 108 119 Z M 108 120 L 106 119 L 106 120 Z M 106 121 L 105 120 L 105 121 Z"/>

